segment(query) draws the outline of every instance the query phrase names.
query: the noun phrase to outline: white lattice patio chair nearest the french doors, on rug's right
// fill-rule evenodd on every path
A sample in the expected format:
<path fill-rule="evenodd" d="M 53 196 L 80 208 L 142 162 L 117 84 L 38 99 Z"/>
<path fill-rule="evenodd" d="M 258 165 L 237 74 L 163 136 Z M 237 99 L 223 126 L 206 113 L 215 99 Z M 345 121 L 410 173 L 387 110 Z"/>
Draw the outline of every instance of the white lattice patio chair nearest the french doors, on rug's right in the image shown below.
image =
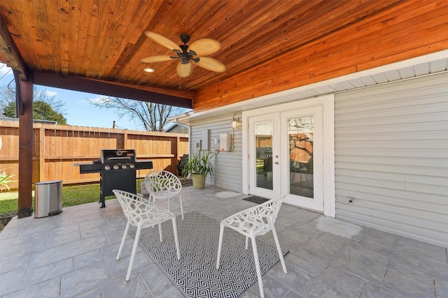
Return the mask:
<path fill-rule="evenodd" d="M 279 214 L 281 203 L 283 202 L 284 196 L 269 200 L 258 206 L 251 207 L 244 211 L 238 212 L 225 220 L 221 221 L 221 230 L 219 231 L 219 244 L 218 244 L 218 257 L 216 258 L 216 269 L 219 269 L 219 262 L 221 258 L 221 248 L 223 245 L 224 228 L 228 227 L 246 236 L 246 249 L 248 247 L 248 239 L 251 238 L 253 258 L 255 261 L 255 269 L 257 271 L 258 277 L 258 287 L 260 288 L 260 296 L 265 297 L 265 292 L 263 291 L 263 285 L 261 281 L 260 272 L 260 262 L 258 261 L 258 251 L 255 237 L 266 234 L 272 231 L 274 236 L 275 246 L 279 252 L 279 258 L 281 266 L 283 267 L 283 272 L 286 272 L 285 261 L 283 260 L 283 254 L 281 253 L 281 248 L 279 244 L 279 238 L 277 237 L 274 223 Z"/>

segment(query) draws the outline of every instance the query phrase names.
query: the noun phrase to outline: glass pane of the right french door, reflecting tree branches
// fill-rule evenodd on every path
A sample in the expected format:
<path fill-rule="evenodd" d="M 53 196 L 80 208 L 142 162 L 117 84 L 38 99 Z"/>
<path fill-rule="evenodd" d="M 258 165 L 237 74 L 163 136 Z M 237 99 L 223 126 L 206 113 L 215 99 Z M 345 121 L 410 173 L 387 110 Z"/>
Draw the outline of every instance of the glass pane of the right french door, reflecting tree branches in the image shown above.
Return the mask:
<path fill-rule="evenodd" d="M 288 119 L 289 193 L 314 198 L 314 117 Z"/>

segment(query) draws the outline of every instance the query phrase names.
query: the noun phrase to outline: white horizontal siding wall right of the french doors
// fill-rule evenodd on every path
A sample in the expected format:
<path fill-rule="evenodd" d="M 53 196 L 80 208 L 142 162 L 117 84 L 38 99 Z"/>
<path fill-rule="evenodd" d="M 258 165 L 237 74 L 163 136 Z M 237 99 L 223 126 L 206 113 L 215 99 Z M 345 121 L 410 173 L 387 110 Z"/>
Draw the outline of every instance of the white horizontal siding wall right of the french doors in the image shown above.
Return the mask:
<path fill-rule="evenodd" d="M 448 74 L 335 95 L 335 193 L 337 218 L 448 246 Z"/>

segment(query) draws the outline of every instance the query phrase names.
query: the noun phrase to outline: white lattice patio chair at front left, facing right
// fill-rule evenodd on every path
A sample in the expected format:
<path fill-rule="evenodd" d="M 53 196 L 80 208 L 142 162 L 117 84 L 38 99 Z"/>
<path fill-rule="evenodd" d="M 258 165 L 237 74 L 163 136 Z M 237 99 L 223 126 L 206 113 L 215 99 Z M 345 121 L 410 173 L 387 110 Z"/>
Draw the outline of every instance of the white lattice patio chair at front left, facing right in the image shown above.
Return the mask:
<path fill-rule="evenodd" d="M 121 244 L 120 248 L 118 249 L 116 260 L 120 260 L 121 251 L 123 251 L 123 246 L 125 244 L 127 232 L 130 228 L 130 225 L 134 225 L 135 227 L 137 227 L 134 246 L 132 247 L 131 260 L 129 263 L 129 267 L 127 268 L 126 281 L 129 281 L 131 278 L 135 251 L 137 251 L 141 229 L 143 228 L 152 227 L 153 225 L 159 225 L 160 242 L 162 242 L 162 226 L 160 225 L 160 223 L 169 221 L 171 219 L 173 222 L 177 259 L 179 260 L 181 258 L 181 255 L 179 253 L 179 240 L 177 238 L 176 216 L 172 212 L 168 211 L 167 209 L 163 209 L 162 207 L 158 207 L 153 202 L 142 200 L 139 195 L 134 195 L 133 193 L 128 193 L 127 191 L 119 191 L 117 189 L 114 189 L 113 193 L 116 195 L 118 202 L 120 202 L 120 206 L 123 209 L 123 213 L 125 214 L 125 217 L 127 219 L 125 233 L 123 234 L 123 239 L 121 239 Z"/>

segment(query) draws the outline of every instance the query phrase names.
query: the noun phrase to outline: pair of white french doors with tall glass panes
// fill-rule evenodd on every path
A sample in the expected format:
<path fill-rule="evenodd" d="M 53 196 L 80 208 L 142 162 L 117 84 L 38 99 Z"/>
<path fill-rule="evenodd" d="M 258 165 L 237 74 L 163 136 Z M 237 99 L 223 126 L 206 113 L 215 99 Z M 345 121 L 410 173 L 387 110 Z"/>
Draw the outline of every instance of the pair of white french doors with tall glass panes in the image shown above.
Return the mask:
<path fill-rule="evenodd" d="M 248 118 L 249 192 L 323 211 L 322 106 Z"/>

